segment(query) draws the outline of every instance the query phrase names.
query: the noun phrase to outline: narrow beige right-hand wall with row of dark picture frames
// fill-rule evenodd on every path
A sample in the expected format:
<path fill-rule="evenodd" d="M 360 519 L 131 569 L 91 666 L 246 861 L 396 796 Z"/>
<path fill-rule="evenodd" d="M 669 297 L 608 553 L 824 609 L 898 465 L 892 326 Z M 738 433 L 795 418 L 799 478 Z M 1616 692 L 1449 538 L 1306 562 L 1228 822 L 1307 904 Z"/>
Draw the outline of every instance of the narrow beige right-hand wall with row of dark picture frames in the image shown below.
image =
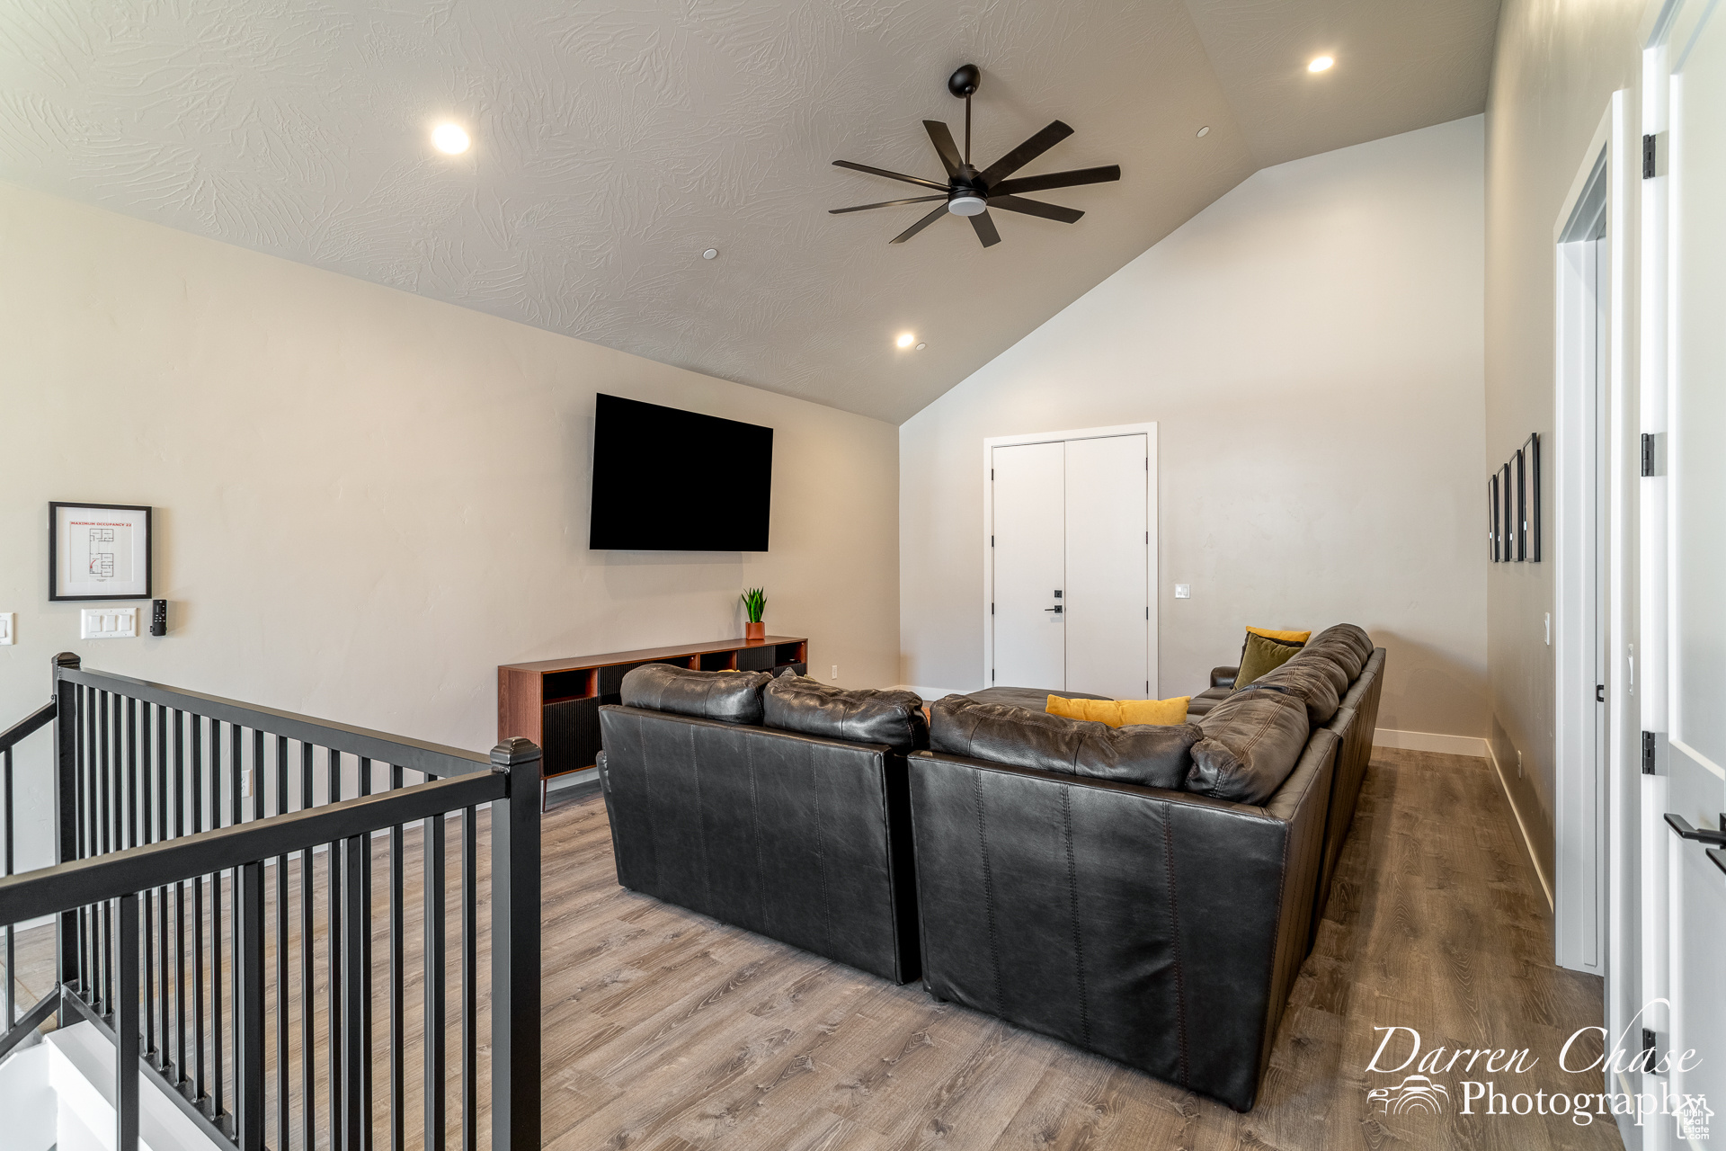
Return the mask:
<path fill-rule="evenodd" d="M 1617 90 L 1638 123 L 1640 0 L 1505 0 L 1486 109 L 1486 457 L 1481 481 L 1553 430 L 1553 224 Z M 1635 195 L 1636 186 L 1631 185 Z M 1636 219 L 1631 207 L 1628 219 Z M 1635 245 L 1628 248 L 1635 255 Z M 1635 290 L 1636 276 L 1628 281 Z M 1626 331 L 1635 335 L 1635 307 Z M 1635 362 L 1635 355 L 1631 357 Z M 1550 481 L 1552 452 L 1545 457 Z M 1550 559 L 1552 504 L 1546 504 Z M 1553 564 L 1488 564 L 1493 754 L 1546 875 L 1553 865 Z M 1517 777 L 1517 752 L 1522 773 Z"/>

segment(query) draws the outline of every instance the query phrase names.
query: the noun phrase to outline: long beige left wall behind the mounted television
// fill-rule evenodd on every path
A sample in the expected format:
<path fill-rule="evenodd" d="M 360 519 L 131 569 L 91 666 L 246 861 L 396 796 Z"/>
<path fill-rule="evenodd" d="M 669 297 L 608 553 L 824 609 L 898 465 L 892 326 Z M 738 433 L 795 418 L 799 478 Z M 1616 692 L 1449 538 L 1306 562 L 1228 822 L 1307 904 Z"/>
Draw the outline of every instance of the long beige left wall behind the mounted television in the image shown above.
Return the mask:
<path fill-rule="evenodd" d="M 892 425 L 9 185 L 0 252 L 0 726 L 76 651 L 487 749 L 499 663 L 740 635 L 756 583 L 823 678 L 898 678 Z M 595 390 L 772 425 L 772 550 L 587 550 Z M 50 499 L 157 509 L 167 637 L 47 602 Z"/>

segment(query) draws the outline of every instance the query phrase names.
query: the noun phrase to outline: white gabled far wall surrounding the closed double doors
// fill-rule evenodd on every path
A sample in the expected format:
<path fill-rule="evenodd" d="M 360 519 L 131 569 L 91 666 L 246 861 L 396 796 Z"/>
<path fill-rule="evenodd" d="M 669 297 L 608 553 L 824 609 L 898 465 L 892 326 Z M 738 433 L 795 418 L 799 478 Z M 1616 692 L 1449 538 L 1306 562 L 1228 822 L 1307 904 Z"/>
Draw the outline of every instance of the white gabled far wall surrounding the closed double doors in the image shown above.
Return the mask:
<path fill-rule="evenodd" d="M 904 423 L 901 678 L 982 682 L 982 440 L 1155 419 L 1165 695 L 1346 620 L 1483 737 L 1483 211 L 1477 116 L 1263 169 Z"/>

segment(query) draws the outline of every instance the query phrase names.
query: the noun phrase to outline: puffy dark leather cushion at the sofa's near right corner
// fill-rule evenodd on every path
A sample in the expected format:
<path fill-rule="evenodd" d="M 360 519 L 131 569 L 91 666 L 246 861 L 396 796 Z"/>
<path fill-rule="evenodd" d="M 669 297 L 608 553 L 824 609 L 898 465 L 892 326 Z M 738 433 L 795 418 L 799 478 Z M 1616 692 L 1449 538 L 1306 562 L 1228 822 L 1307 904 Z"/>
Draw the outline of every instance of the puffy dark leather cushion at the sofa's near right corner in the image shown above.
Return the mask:
<path fill-rule="evenodd" d="M 1282 787 L 1307 745 L 1307 706 L 1274 689 L 1241 690 L 1200 721 L 1186 790 L 1263 804 Z"/>

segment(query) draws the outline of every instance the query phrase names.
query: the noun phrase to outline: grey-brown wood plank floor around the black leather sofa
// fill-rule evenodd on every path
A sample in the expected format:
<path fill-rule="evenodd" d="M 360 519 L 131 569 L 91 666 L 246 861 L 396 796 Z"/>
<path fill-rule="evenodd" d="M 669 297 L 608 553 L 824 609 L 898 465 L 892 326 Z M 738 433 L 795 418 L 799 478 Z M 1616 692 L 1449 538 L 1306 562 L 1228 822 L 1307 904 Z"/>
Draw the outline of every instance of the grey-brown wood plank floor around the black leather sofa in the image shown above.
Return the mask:
<path fill-rule="evenodd" d="M 482 821 L 482 890 L 483 833 Z M 1372 1028 L 1393 1025 L 1419 1028 L 1426 1049 L 1528 1047 L 1538 1058 L 1529 1072 L 1474 1075 L 1507 1094 L 1600 1089 L 1593 1075 L 1557 1065 L 1571 1032 L 1600 1023 L 1600 982 L 1552 965 L 1550 911 L 1498 780 L 1479 759 L 1376 754 L 1250 1115 L 937 1004 L 917 985 L 894 987 L 627 892 L 597 796 L 554 802 L 544 847 L 544 1132 L 557 1151 L 1619 1144 L 1605 1116 L 1590 1125 L 1484 1116 L 1479 1103 L 1458 1115 L 1460 1068 L 1433 1075 L 1450 1089 L 1439 1115 L 1388 1115 L 1367 1098 L 1403 1079 L 1365 1070 L 1381 1037 Z M 418 892 L 407 906 L 416 939 Z M 22 944 L 21 978 L 45 984 L 35 954 L 45 947 Z M 418 977 L 411 956 L 414 1013 Z M 381 999 L 378 1008 L 381 1032 Z M 483 1013 L 482 996 L 482 1046 Z M 418 1068 L 413 1015 L 407 1023 L 407 1061 Z M 385 1098 L 380 1089 L 380 1104 Z M 416 1072 L 407 1104 L 418 1127 Z M 480 1123 L 485 1146 L 483 1115 Z M 407 1142 L 418 1146 L 416 1130 Z"/>

